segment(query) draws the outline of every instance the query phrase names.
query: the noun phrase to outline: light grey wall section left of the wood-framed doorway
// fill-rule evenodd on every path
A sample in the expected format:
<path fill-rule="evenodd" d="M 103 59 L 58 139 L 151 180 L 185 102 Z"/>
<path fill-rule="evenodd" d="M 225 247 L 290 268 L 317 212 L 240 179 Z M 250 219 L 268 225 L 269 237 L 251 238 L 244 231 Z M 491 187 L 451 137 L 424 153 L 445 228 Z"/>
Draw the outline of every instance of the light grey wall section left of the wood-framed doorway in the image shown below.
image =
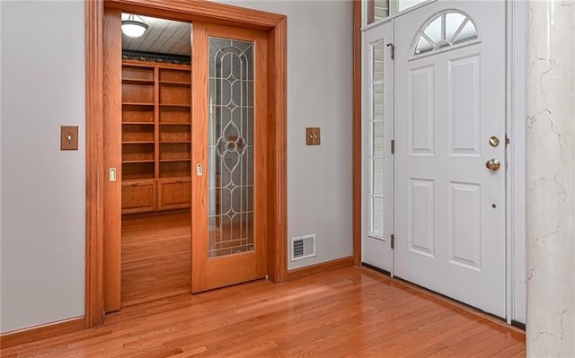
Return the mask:
<path fill-rule="evenodd" d="M 0 6 L 4 333 L 84 315 L 84 3 Z"/>

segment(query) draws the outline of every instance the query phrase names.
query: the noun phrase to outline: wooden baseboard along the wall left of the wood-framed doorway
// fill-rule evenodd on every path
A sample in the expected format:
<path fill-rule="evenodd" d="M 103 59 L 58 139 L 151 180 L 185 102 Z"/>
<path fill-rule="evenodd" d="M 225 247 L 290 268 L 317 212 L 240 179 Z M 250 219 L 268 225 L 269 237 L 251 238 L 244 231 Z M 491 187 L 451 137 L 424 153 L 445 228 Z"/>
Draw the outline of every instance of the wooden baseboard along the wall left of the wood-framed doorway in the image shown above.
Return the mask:
<path fill-rule="evenodd" d="M 13 345 L 22 345 L 51 336 L 65 335 L 84 328 L 84 317 L 67 319 L 60 322 L 49 323 L 38 327 L 21 329 L 0 335 L 0 348 L 4 349 Z"/>

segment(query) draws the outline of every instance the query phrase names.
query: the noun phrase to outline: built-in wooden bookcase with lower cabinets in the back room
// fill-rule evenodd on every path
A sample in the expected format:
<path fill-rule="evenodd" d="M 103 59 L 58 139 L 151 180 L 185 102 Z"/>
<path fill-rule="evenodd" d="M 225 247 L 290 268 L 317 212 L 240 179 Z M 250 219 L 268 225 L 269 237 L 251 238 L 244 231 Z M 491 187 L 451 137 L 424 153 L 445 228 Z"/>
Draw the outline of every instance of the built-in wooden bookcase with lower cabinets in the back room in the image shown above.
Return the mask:
<path fill-rule="evenodd" d="M 122 64 L 122 214 L 190 207 L 190 65 Z"/>

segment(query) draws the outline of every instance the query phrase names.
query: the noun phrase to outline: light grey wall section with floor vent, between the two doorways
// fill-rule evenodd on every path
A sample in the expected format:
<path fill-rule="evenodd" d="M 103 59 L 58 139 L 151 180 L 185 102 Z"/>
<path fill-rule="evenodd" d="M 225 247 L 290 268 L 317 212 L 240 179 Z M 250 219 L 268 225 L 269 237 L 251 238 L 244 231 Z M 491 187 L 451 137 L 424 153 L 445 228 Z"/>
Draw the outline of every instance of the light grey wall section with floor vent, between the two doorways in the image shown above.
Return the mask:
<path fill-rule="evenodd" d="M 288 16 L 288 238 L 314 232 L 317 249 L 288 268 L 351 256 L 352 2 L 221 2 Z"/>

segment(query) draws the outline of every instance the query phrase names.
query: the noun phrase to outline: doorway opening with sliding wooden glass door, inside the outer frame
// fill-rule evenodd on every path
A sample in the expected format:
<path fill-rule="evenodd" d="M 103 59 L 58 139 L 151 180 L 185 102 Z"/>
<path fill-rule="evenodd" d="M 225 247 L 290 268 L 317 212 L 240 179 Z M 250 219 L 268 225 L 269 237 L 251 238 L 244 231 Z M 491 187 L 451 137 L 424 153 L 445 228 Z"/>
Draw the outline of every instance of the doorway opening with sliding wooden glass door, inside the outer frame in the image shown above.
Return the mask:
<path fill-rule="evenodd" d="M 104 310 L 265 277 L 267 34 L 116 9 L 104 32 Z"/>

